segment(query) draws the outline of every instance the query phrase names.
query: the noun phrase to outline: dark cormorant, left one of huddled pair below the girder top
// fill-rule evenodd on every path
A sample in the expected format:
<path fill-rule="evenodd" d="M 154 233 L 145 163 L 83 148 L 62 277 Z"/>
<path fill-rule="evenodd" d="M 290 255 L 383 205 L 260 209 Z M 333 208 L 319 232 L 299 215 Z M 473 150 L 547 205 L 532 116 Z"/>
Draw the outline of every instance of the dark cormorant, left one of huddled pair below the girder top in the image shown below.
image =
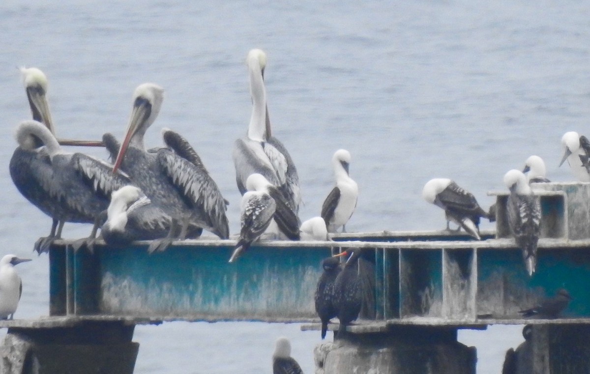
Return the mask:
<path fill-rule="evenodd" d="M 338 257 L 328 257 L 322 261 L 323 273 L 317 281 L 314 301 L 316 303 L 317 315 L 322 320 L 322 339 L 326 337 L 328 322 L 336 317 L 338 310 L 336 308 L 336 295 L 334 293 L 334 284 L 336 277 L 340 274 L 340 259 Z"/>

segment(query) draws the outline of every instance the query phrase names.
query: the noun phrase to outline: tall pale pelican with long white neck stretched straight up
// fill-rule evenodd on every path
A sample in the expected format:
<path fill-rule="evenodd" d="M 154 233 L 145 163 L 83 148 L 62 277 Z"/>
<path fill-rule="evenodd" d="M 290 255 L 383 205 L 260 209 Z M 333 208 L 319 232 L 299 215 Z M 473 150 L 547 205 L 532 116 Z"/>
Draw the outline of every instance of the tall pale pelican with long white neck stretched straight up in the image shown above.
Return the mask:
<path fill-rule="evenodd" d="M 291 209 L 298 214 L 301 194 L 297 169 L 283 143 L 271 134 L 264 87 L 266 54 L 262 50 L 251 50 L 246 61 L 253 108 L 247 136 L 235 141 L 232 152 L 238 189 L 244 195 L 248 176 L 259 173 L 281 189 Z"/>

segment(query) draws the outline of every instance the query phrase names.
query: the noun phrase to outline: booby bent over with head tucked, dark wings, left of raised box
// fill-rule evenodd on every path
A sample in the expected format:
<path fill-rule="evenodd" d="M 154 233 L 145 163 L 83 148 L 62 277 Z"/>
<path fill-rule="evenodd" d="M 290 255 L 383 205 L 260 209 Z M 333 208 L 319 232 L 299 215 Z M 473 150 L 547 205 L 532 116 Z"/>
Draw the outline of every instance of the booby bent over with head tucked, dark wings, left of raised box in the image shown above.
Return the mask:
<path fill-rule="evenodd" d="M 481 209 L 471 192 L 464 190 L 448 178 L 434 178 L 426 182 L 422 189 L 422 197 L 430 204 L 444 209 L 447 230 L 450 229 L 449 222 L 453 221 L 477 240 L 481 240 L 480 217 L 495 219 L 495 216 L 492 217 Z"/>

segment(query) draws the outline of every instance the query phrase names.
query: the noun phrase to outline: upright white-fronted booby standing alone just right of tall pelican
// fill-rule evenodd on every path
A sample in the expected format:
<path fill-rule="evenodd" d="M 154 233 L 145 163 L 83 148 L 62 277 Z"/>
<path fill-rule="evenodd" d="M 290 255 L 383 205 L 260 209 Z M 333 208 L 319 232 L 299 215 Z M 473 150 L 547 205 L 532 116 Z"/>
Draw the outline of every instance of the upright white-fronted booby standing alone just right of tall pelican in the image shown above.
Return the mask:
<path fill-rule="evenodd" d="M 342 227 L 346 231 L 346 222 L 355 212 L 359 187 L 350 178 L 350 152 L 339 149 L 332 156 L 336 186 L 330 191 L 322 204 L 322 218 L 326 222 L 328 232 L 336 232 Z"/>

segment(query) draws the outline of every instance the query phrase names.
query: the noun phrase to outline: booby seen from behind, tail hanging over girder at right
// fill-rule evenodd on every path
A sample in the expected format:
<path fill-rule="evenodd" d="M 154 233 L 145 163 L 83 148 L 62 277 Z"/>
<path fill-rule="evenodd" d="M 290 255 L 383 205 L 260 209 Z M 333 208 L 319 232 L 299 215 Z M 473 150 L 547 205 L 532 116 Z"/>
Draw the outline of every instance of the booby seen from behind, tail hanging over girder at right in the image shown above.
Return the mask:
<path fill-rule="evenodd" d="M 516 239 L 516 245 L 522 249 L 526 270 L 529 275 L 535 273 L 537 241 L 539 241 L 541 223 L 541 204 L 539 196 L 526 182 L 526 176 L 516 169 L 504 175 L 504 184 L 510 189 L 506 202 L 506 212 L 510 231 Z"/>

